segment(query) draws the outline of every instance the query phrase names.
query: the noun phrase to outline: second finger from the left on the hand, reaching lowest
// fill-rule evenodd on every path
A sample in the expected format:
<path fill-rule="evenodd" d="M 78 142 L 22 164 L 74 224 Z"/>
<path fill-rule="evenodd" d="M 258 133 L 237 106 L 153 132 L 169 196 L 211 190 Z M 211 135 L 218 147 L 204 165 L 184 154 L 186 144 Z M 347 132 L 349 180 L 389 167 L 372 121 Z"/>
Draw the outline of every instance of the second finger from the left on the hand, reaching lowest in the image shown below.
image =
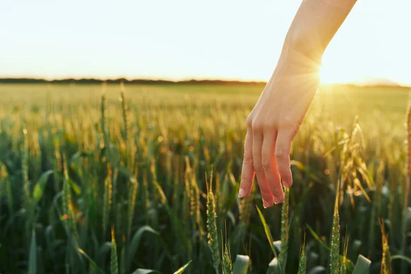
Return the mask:
<path fill-rule="evenodd" d="M 262 204 L 264 208 L 273 206 L 274 197 L 267 182 L 264 169 L 262 168 L 261 149 L 262 149 L 262 131 L 253 128 L 253 168 L 256 172 L 258 186 L 260 186 Z"/>

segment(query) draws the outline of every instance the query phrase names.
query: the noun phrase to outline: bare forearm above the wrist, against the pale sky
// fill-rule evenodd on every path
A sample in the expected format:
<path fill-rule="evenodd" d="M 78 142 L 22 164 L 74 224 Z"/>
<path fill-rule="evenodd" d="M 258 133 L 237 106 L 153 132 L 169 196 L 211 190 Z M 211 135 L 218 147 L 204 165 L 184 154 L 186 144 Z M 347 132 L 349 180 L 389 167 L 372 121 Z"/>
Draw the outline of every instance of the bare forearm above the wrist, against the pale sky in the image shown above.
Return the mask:
<path fill-rule="evenodd" d="M 290 55 L 316 63 L 356 0 L 303 0 L 284 41 L 282 58 Z"/>

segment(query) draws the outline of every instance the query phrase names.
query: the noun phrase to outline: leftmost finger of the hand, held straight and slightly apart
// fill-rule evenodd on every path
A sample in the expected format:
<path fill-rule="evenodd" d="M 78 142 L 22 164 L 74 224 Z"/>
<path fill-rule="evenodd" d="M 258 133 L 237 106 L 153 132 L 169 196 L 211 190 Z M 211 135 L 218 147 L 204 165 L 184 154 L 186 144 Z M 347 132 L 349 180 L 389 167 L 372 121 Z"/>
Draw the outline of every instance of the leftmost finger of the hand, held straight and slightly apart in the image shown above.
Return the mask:
<path fill-rule="evenodd" d="M 251 132 L 251 127 L 249 127 L 249 129 L 247 129 L 247 134 L 245 135 L 244 158 L 242 159 L 241 182 L 240 190 L 238 191 L 239 198 L 250 195 L 251 187 L 253 186 L 254 169 L 252 149 L 253 134 Z"/>

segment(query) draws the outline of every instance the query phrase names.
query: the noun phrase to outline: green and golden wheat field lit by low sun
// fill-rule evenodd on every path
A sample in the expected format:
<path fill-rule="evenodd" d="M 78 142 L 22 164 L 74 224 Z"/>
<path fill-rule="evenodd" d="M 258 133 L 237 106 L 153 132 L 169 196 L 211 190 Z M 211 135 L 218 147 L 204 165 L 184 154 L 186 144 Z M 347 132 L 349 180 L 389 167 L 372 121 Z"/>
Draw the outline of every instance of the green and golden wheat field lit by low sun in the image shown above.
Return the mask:
<path fill-rule="evenodd" d="M 410 90 L 321 86 L 263 209 L 237 197 L 263 88 L 0 84 L 0 273 L 410 273 Z"/>

